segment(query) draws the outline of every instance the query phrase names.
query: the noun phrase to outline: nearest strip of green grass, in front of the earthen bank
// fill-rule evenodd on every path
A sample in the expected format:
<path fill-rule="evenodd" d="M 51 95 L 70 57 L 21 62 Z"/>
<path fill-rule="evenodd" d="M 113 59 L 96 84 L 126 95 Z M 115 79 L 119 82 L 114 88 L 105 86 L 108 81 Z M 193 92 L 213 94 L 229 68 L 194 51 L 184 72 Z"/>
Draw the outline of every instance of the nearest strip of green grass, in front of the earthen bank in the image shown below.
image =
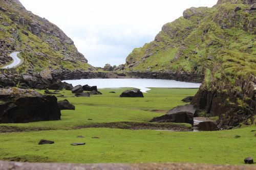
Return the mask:
<path fill-rule="evenodd" d="M 194 162 L 243 164 L 255 157 L 256 126 L 217 132 L 90 128 L 0 134 L 0 159 L 34 162 Z M 77 138 L 82 135 L 85 138 Z M 235 139 L 234 136 L 241 137 Z M 92 137 L 99 137 L 93 139 Z M 40 139 L 54 140 L 38 145 Z M 73 142 L 86 142 L 74 147 Z"/>

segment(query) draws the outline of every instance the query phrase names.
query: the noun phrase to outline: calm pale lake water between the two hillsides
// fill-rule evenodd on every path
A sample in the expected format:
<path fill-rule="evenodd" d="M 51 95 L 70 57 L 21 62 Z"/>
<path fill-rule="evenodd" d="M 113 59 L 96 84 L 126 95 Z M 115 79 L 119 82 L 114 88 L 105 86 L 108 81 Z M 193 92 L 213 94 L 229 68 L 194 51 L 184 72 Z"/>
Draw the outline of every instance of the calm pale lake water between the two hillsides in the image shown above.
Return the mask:
<path fill-rule="evenodd" d="M 199 88 L 200 83 L 188 83 L 179 82 L 174 80 L 159 80 L 159 79 L 81 79 L 81 80 L 64 80 L 76 85 L 86 85 L 97 86 L 98 89 L 103 88 L 123 88 L 123 87 L 133 87 L 139 88 L 142 92 L 150 90 L 150 87 L 160 87 L 160 88 Z"/>

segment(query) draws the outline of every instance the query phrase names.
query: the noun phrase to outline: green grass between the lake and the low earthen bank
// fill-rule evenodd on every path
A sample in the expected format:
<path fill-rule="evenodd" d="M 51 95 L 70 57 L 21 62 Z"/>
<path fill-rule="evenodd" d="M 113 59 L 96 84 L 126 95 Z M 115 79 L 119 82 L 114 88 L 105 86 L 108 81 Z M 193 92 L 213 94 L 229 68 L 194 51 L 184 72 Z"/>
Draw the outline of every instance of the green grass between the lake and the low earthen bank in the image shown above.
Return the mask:
<path fill-rule="evenodd" d="M 131 88 L 130 88 L 131 89 Z M 28 124 L 1 124 L 21 128 L 42 129 L 73 129 L 78 126 L 89 126 L 96 123 L 117 122 L 148 122 L 153 117 L 164 113 L 154 113 L 152 110 L 168 111 L 177 105 L 184 105 L 181 100 L 188 95 L 194 95 L 198 89 L 152 88 L 144 93 L 145 98 L 119 98 L 126 89 L 100 90 L 102 95 L 91 95 L 90 98 L 76 98 L 71 91 L 60 91 L 76 110 L 61 111 L 60 121 L 34 122 Z M 43 93 L 44 90 L 38 90 Z M 116 93 L 109 93 L 115 91 Z M 88 120 L 92 119 L 92 120 Z"/>

